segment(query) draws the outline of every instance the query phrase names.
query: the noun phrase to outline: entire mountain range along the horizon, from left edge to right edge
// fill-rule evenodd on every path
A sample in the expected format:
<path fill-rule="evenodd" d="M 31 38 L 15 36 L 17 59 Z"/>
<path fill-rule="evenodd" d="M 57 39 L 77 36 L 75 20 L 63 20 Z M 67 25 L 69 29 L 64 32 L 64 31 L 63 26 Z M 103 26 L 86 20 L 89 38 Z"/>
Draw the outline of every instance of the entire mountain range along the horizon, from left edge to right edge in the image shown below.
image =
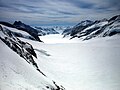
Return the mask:
<path fill-rule="evenodd" d="M 23 37 L 42 42 L 39 36 L 49 34 L 62 34 L 63 37 L 80 38 L 80 40 L 89 40 L 95 37 L 113 36 L 120 33 L 120 15 L 113 16 L 110 19 L 85 20 L 73 27 L 54 26 L 54 27 L 32 27 L 21 21 L 15 21 L 13 24 L 0 22 L 3 27 L 10 29 L 17 37 Z"/>

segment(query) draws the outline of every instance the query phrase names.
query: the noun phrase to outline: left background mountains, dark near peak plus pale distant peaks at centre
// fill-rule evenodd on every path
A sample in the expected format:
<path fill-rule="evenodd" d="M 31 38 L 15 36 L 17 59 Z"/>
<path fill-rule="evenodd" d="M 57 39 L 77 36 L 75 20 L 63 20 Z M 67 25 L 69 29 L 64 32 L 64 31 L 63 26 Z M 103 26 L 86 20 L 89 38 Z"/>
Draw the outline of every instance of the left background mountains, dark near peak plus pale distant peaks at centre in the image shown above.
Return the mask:
<path fill-rule="evenodd" d="M 21 21 L 15 21 L 13 24 L 10 24 L 8 22 L 0 22 L 1 25 L 3 25 L 5 28 L 8 28 L 12 30 L 13 34 L 17 37 L 23 37 L 31 40 L 37 40 L 40 41 L 40 38 L 38 36 L 44 36 L 49 34 L 59 34 L 59 30 L 63 28 L 56 28 L 56 27 L 32 27 L 30 25 L 27 25 Z M 58 30 L 58 31 L 57 31 Z"/>

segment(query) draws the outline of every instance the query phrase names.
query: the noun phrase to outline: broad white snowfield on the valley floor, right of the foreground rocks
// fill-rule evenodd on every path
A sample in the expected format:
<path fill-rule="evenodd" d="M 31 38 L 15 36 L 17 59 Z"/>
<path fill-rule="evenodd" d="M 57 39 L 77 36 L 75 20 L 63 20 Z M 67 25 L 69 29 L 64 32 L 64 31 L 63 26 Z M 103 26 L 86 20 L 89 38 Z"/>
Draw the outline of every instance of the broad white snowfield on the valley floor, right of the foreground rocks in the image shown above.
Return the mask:
<path fill-rule="evenodd" d="M 119 35 L 79 43 L 24 41 L 34 46 L 41 69 L 66 90 L 120 89 Z"/>

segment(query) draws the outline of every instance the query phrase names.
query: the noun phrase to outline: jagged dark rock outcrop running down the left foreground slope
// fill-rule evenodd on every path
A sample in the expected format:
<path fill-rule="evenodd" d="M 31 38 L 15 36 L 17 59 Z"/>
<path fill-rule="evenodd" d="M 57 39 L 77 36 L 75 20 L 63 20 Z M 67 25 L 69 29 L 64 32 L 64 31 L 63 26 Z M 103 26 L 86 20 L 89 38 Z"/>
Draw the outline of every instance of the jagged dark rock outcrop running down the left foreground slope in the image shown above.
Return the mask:
<path fill-rule="evenodd" d="M 4 36 L 0 36 L 0 39 L 13 51 L 20 55 L 20 57 L 24 58 L 29 64 L 32 64 L 37 71 L 39 71 L 42 75 L 46 76 L 38 67 L 37 63 L 34 61 L 33 56 L 37 58 L 37 55 L 31 44 L 21 41 L 17 37 L 15 37 L 10 30 L 3 29 L 0 26 L 0 31 Z"/>

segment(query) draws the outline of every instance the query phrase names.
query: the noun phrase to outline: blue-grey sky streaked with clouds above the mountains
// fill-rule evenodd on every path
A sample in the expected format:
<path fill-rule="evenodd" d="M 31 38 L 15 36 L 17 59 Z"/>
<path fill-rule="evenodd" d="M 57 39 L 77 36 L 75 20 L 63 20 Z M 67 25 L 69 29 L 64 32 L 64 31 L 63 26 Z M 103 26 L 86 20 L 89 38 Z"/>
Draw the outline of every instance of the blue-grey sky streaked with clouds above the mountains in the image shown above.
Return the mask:
<path fill-rule="evenodd" d="M 74 25 L 120 12 L 119 0 L 0 0 L 0 20 L 30 25 Z"/>

